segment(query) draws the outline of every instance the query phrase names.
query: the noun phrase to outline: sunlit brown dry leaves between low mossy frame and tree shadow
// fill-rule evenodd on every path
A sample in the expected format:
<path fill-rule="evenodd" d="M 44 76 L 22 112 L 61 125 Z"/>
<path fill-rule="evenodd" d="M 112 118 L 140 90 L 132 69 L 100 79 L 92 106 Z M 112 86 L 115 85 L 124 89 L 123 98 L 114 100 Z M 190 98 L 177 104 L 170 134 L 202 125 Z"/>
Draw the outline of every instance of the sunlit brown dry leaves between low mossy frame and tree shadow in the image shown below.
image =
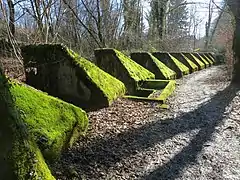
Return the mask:
<path fill-rule="evenodd" d="M 145 124 L 148 118 L 159 111 L 156 103 L 139 102 L 129 99 L 117 99 L 110 107 L 90 112 L 91 137 L 112 136 L 129 128 L 137 128 Z"/>

